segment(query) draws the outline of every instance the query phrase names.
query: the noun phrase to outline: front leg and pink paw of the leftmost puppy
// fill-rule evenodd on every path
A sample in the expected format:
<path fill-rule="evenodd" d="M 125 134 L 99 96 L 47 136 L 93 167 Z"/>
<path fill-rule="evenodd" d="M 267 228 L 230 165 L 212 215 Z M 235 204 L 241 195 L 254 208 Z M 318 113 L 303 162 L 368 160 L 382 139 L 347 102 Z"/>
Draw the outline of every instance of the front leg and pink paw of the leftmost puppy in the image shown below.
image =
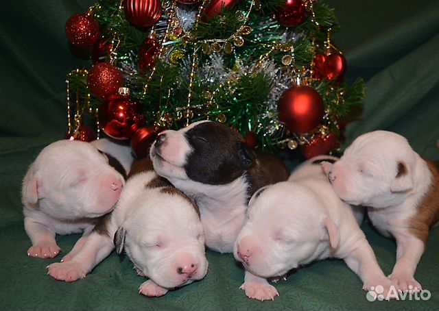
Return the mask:
<path fill-rule="evenodd" d="M 27 249 L 27 256 L 54 258 L 60 253 L 60 247 L 56 245 L 54 231 L 29 217 L 25 217 L 24 222 L 26 233 L 32 241 L 32 247 Z"/>

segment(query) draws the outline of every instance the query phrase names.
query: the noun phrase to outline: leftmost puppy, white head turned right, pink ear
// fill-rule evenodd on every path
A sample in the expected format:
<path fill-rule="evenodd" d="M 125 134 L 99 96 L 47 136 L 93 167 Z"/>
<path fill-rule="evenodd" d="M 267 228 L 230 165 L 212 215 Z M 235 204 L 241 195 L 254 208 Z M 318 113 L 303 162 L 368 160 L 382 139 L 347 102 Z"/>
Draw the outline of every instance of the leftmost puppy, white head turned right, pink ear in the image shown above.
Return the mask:
<path fill-rule="evenodd" d="M 45 147 L 23 179 L 25 230 L 32 241 L 27 255 L 53 258 L 60 251 L 56 234 L 91 232 L 119 199 L 123 175 L 114 157 L 88 142 L 60 140 Z"/>

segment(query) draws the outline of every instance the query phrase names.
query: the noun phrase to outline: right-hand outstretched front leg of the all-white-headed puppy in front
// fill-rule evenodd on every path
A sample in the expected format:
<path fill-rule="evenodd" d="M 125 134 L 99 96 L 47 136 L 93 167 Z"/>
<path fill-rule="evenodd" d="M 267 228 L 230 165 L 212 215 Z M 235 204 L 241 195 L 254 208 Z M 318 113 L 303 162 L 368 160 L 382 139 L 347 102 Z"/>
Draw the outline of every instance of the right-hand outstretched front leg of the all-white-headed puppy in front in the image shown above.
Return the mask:
<path fill-rule="evenodd" d="M 363 281 L 364 290 L 375 290 L 377 286 L 381 285 L 383 286 L 382 295 L 385 299 L 396 298 L 388 295 L 391 292 L 392 282 L 385 277 L 379 267 L 375 253 L 366 238 L 361 238 L 355 242 L 351 253 L 343 259 L 348 267 L 357 273 L 361 281 Z"/>

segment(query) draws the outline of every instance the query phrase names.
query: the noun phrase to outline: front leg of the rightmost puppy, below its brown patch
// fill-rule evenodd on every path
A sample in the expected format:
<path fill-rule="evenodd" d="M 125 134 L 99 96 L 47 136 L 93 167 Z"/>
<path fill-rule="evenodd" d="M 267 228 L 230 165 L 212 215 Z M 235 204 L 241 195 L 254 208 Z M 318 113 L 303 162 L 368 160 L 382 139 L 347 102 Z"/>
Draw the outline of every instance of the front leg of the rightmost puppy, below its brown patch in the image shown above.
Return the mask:
<path fill-rule="evenodd" d="M 414 279 L 414 272 L 424 252 L 424 243 L 414 236 L 395 234 L 396 264 L 389 278 L 403 292 L 422 290 Z"/>

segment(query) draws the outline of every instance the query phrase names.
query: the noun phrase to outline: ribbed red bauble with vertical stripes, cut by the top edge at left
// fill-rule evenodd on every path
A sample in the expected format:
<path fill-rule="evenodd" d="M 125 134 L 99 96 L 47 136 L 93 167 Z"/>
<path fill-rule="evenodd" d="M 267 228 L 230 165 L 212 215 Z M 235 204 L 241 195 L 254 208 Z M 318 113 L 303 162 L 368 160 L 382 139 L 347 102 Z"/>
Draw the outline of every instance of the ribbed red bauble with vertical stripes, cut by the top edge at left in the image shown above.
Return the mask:
<path fill-rule="evenodd" d="M 123 8 L 126 19 L 137 27 L 151 27 L 162 16 L 160 0 L 126 0 Z"/>

